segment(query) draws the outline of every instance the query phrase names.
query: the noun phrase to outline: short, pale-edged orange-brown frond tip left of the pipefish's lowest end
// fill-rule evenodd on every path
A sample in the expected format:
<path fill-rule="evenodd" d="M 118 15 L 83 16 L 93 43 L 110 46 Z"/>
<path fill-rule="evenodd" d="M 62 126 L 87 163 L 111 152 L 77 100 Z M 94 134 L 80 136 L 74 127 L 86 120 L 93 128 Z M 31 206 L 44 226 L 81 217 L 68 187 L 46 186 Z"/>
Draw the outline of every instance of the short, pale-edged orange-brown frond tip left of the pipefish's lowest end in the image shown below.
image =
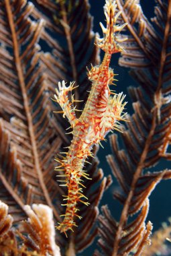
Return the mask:
<path fill-rule="evenodd" d="M 25 248 L 36 251 L 38 255 L 60 256 L 60 249 L 55 243 L 52 209 L 42 204 L 33 204 L 32 208 L 30 205 L 25 205 L 24 209 L 29 218 L 21 223 L 17 234 Z"/>

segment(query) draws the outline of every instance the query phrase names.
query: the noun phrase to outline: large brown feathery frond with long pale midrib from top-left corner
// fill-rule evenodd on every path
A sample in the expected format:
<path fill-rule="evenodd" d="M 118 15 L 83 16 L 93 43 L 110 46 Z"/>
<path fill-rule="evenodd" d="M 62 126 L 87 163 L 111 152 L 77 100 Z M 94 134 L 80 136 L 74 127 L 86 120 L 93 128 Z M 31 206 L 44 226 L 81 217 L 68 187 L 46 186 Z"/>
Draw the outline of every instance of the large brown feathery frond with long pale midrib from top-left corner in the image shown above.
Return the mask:
<path fill-rule="evenodd" d="M 15 143 L 22 175 L 33 187 L 34 202 L 50 205 L 54 216 L 60 220 L 58 206 L 53 205 L 60 191 L 54 181 L 53 159 L 61 140 L 50 124 L 49 99 L 38 46 L 44 22 L 32 22 L 27 17 L 34 6 L 23 0 L 5 0 L 0 5 L 0 49 L 4 63 L 1 65 L 4 72 L 0 84 L 0 112 L 7 120 L 4 126 Z M 25 200 L 22 194 L 21 200 Z"/>

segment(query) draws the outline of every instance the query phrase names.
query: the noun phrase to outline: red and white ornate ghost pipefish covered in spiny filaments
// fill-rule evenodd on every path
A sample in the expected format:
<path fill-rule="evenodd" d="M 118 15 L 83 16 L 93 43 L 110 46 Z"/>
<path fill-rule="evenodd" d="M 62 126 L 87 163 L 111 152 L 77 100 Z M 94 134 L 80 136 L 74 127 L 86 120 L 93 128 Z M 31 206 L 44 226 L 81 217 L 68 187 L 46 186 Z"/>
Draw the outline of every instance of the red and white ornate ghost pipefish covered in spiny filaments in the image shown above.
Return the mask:
<path fill-rule="evenodd" d="M 115 1 L 106 0 L 104 10 L 107 28 L 101 24 L 103 38 L 99 38 L 97 44 L 105 51 L 105 57 L 101 65 L 92 67 L 88 72 L 92 87 L 80 117 L 76 119 L 72 102 L 68 100 L 68 92 L 73 89 L 73 83 L 70 83 L 67 88 L 64 81 L 62 85 L 59 82 L 59 90 L 56 90 L 56 95 L 54 96 L 73 129 L 73 138 L 68 152 L 65 153 L 66 157 L 56 158 L 56 161 L 60 163 L 56 170 L 64 172 L 63 175 L 58 176 L 64 176 L 64 186 L 68 187 L 68 195 L 64 196 L 64 200 L 67 201 L 64 204 L 66 205 L 66 213 L 64 214 L 63 222 L 57 227 L 60 232 L 65 232 L 65 234 L 67 230 L 72 230 L 73 226 L 76 226 L 74 216 L 78 216 L 78 209 L 76 208 L 78 201 L 89 205 L 88 202 L 82 201 L 82 197 L 85 197 L 82 193 L 84 185 L 80 180 L 81 177 L 90 179 L 89 174 L 82 170 L 86 158 L 93 156 L 91 153 L 93 145 L 104 140 L 105 135 L 112 129 L 119 130 L 119 121 L 125 120 L 125 114 L 123 113 L 127 103 L 123 102 L 125 96 L 121 92 L 112 97 L 111 94 L 113 93 L 109 89 L 109 85 L 115 81 L 113 69 L 109 67 L 111 55 L 123 51 L 120 43 L 127 39 L 121 38 L 117 33 L 127 24 L 116 25 L 117 18 L 121 14 L 121 11 L 115 14 L 116 8 Z M 85 198 L 87 199 L 87 197 Z M 78 216 L 78 218 L 81 217 Z"/>

